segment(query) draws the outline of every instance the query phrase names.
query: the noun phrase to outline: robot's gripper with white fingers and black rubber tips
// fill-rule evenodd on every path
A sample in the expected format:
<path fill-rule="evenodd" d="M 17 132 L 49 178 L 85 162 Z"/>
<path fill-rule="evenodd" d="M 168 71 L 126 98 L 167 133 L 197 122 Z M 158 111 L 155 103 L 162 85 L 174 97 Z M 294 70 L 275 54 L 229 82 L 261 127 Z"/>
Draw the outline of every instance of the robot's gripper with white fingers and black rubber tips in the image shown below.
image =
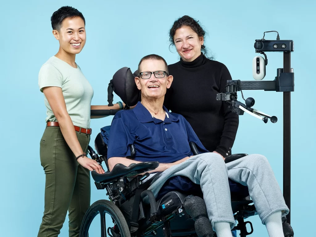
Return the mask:
<path fill-rule="evenodd" d="M 268 119 L 272 123 L 276 123 L 277 118 L 276 116 L 270 116 L 265 114 L 259 110 L 252 108 L 255 104 L 255 100 L 251 97 L 247 98 L 246 104 L 241 103 L 237 100 L 237 92 L 226 92 L 226 93 L 218 93 L 216 95 L 216 100 L 222 100 L 229 104 L 228 109 L 231 110 L 233 113 L 237 113 L 238 115 L 243 115 L 244 112 L 261 119 L 264 123 L 268 122 Z"/>

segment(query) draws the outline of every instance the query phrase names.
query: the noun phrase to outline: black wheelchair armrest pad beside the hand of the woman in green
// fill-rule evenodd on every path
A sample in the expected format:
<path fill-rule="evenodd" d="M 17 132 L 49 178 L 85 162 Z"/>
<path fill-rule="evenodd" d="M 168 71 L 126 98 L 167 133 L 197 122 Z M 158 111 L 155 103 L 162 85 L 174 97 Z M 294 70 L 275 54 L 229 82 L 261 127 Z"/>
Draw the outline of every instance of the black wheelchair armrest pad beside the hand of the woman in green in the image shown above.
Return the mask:
<path fill-rule="evenodd" d="M 135 176 L 141 173 L 148 172 L 150 170 L 154 170 L 158 166 L 159 162 L 157 161 L 142 162 L 130 165 L 129 167 L 126 167 L 123 164 L 116 164 L 111 172 L 106 171 L 104 174 L 99 174 L 95 171 L 91 171 L 91 176 L 96 183 L 107 184 L 121 177 Z"/>

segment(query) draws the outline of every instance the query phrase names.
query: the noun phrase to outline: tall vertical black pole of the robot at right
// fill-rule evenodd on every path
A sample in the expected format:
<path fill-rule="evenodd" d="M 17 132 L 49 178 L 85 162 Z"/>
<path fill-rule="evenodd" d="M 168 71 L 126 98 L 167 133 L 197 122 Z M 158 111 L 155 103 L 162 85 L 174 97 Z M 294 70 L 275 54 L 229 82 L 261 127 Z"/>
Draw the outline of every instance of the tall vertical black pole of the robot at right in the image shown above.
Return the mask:
<path fill-rule="evenodd" d="M 291 72 L 291 52 L 283 52 L 283 72 Z M 291 92 L 283 92 L 283 197 L 291 204 Z M 290 213 L 287 215 L 290 223 Z"/>

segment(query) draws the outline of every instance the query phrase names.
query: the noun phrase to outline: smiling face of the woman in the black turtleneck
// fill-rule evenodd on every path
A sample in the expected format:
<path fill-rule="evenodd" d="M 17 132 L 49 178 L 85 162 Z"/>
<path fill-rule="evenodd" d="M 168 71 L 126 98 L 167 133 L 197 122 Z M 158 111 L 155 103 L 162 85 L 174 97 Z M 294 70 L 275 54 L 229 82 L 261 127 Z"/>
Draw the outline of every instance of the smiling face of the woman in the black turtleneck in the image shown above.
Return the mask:
<path fill-rule="evenodd" d="M 176 30 L 173 37 L 177 52 L 185 62 L 192 62 L 201 55 L 204 38 L 198 37 L 191 27 L 184 26 Z"/>

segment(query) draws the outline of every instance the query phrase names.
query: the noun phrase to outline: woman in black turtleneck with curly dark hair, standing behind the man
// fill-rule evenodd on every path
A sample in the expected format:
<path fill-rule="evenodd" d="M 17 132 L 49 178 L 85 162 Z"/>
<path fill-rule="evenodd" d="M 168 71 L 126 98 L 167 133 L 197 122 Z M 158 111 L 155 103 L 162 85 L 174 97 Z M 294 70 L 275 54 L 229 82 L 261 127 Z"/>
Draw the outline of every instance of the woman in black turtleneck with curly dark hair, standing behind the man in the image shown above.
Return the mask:
<path fill-rule="evenodd" d="M 202 27 L 189 16 L 174 22 L 170 42 L 181 58 L 168 65 L 173 82 L 164 105 L 185 117 L 206 149 L 225 158 L 231 155 L 239 120 L 225 102 L 216 100 L 216 94 L 225 92 L 227 80 L 232 78 L 224 64 L 201 52 L 205 52 L 204 35 Z"/>

